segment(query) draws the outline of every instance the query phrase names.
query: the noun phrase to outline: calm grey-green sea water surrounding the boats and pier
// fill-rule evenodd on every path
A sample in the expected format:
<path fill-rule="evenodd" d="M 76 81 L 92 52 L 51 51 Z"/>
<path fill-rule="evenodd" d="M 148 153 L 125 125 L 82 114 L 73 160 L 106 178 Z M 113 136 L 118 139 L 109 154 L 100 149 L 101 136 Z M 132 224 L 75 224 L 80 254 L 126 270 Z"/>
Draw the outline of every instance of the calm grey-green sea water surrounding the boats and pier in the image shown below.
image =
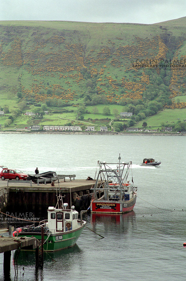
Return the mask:
<path fill-rule="evenodd" d="M 1 165 L 27 173 L 38 167 L 39 172 L 86 178 L 95 176 L 98 160 L 115 162 L 120 153 L 122 161 L 132 161 L 138 186 L 134 211 L 84 216 L 87 226 L 105 238 L 85 228 L 76 246 L 45 255 L 38 273 L 34 254 L 21 252 L 16 280 L 186 280 L 185 140 L 184 136 L 0 134 Z M 145 157 L 162 164 L 141 167 L 138 163 Z M 0 227 L 5 226 L 7 222 L 1 221 Z M 0 280 L 4 280 L 3 254 Z"/>

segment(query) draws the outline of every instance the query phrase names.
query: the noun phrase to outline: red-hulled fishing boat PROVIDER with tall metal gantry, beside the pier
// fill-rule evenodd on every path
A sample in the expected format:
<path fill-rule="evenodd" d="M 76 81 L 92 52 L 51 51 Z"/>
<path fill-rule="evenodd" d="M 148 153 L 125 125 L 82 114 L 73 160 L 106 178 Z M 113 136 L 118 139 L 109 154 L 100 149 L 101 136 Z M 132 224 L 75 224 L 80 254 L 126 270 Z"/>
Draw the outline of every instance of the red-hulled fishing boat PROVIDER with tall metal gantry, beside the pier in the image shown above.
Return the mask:
<path fill-rule="evenodd" d="M 90 211 L 93 213 L 125 213 L 133 210 L 137 187 L 131 183 L 132 162 L 106 163 L 98 161 L 99 172 L 93 190 Z M 98 198 L 103 192 L 103 196 Z"/>

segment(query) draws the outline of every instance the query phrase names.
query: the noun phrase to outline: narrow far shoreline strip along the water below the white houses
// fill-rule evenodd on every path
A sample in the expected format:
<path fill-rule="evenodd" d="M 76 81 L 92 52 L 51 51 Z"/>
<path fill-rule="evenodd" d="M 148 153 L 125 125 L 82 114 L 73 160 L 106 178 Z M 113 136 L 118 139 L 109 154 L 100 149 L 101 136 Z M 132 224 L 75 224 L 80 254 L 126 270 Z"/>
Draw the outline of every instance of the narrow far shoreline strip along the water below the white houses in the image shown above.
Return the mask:
<path fill-rule="evenodd" d="M 48 134 L 48 135 L 168 135 L 168 136 L 185 136 L 186 133 L 174 132 L 100 132 L 100 131 L 0 131 L 0 134 Z"/>

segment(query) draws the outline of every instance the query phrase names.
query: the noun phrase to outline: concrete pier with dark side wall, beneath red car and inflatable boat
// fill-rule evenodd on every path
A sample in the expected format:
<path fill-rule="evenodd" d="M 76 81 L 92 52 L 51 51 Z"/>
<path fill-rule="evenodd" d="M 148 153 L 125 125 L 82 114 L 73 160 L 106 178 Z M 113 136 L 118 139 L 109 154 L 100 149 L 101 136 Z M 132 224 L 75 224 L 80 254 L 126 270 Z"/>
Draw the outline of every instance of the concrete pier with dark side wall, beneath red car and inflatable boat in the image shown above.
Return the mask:
<path fill-rule="evenodd" d="M 15 211 L 29 210 L 29 211 L 41 211 L 48 208 L 48 206 L 56 206 L 56 190 L 59 194 L 59 189 L 63 197 L 63 202 L 71 205 L 73 204 L 76 196 L 83 196 L 89 193 L 90 188 L 95 184 L 95 181 L 91 180 L 66 180 L 63 179 L 59 183 L 53 184 L 35 184 L 27 181 L 9 181 L 7 188 L 7 181 L 0 180 L 0 191 L 3 194 L 3 190 L 7 193 L 7 208 L 11 207 Z M 52 186 L 53 185 L 53 186 Z M 1 199 L 1 198 L 0 198 Z M 2 209 L 0 210 L 2 211 Z"/>

